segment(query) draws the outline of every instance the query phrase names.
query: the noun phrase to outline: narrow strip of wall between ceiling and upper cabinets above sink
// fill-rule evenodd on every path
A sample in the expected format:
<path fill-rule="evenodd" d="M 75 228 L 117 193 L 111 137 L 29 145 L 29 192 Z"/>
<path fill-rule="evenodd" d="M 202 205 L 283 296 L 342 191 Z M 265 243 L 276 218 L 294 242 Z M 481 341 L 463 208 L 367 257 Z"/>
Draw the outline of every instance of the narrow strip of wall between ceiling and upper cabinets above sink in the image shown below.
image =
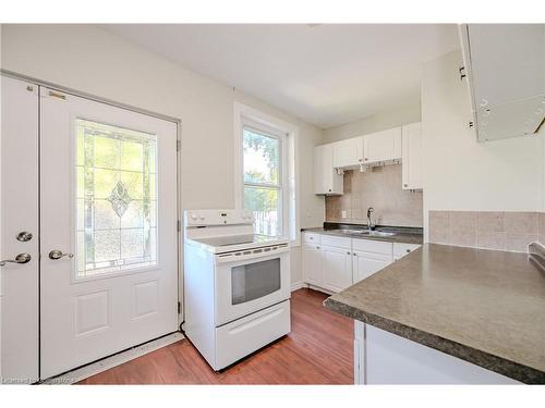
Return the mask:
<path fill-rule="evenodd" d="M 324 143 L 349 139 L 373 132 L 385 131 L 408 123 L 420 122 L 420 104 L 400 107 L 360 121 L 324 131 Z"/>

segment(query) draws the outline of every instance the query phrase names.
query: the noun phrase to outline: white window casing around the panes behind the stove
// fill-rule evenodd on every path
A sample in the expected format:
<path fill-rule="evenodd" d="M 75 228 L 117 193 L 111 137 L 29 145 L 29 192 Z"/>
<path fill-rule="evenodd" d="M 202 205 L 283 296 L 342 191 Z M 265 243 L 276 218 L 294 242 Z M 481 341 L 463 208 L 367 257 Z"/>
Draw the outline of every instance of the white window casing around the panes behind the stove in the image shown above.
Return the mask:
<path fill-rule="evenodd" d="M 299 127 L 281 121 L 238 101 L 234 102 L 234 208 L 244 206 L 244 157 L 243 128 L 254 127 L 281 138 L 281 174 L 282 188 L 282 235 L 288 236 L 292 245 L 301 245 L 300 208 L 299 208 Z M 264 185 L 262 185 L 264 186 Z"/>

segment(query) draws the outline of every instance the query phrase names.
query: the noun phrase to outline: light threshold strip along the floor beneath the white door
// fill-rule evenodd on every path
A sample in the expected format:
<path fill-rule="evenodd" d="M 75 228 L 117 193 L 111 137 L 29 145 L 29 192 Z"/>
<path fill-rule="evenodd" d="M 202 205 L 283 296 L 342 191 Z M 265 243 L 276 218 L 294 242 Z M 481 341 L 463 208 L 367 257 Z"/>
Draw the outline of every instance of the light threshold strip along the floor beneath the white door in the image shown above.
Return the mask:
<path fill-rule="evenodd" d="M 170 344 L 177 343 L 184 339 L 182 333 L 175 332 L 165 337 L 154 339 L 152 342 L 145 343 L 141 346 L 136 346 L 125 351 L 118 353 L 113 356 L 106 357 L 101 360 L 92 362 L 90 364 L 81 367 L 78 369 L 69 371 L 64 374 L 47 379 L 43 384 L 49 385 L 65 385 L 74 384 L 78 381 L 88 379 L 92 375 L 98 374 L 102 371 L 109 370 L 113 367 L 121 366 L 128 361 L 134 360 L 135 358 L 145 356 L 152 351 L 158 350 L 159 348 L 166 347 Z"/>

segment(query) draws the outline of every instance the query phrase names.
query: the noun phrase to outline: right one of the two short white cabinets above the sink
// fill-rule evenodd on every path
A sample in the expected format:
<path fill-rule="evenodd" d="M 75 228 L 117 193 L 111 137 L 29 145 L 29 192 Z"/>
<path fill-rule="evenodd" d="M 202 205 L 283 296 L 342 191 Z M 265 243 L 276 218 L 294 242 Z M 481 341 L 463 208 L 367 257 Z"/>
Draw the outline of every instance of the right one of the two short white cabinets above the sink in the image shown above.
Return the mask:
<path fill-rule="evenodd" d="M 363 163 L 389 162 L 401 159 L 401 127 L 363 136 Z"/>

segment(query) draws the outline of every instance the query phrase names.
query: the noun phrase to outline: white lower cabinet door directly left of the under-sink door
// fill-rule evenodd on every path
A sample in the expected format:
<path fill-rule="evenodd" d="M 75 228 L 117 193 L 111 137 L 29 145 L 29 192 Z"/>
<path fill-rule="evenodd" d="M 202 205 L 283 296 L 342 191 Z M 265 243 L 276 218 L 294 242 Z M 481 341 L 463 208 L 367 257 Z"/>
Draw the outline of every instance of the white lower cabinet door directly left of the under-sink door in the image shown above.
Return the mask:
<path fill-rule="evenodd" d="M 352 285 L 352 259 L 349 249 L 322 246 L 323 287 L 339 292 Z"/>

